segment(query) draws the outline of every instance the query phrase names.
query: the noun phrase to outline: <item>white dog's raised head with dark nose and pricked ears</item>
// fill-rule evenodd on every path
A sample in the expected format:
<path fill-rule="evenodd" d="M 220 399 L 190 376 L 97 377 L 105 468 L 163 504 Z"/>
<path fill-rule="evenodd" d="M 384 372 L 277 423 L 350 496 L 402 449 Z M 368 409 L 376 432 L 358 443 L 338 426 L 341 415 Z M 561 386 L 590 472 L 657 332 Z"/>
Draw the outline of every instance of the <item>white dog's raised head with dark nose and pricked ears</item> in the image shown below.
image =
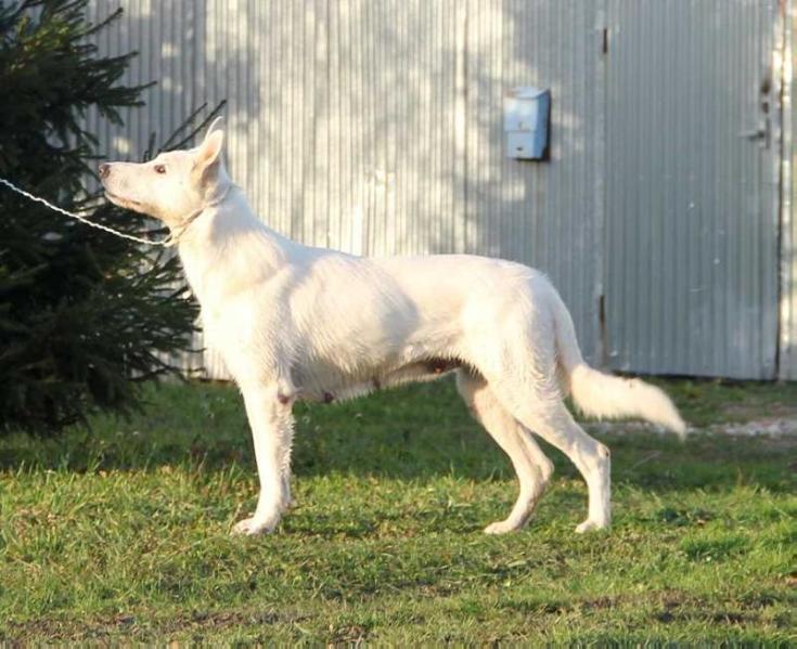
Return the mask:
<path fill-rule="evenodd" d="M 216 119 L 205 140 L 188 151 L 162 153 L 149 163 L 104 163 L 100 181 L 112 203 L 155 217 L 169 226 L 220 196 L 230 183 L 221 160 L 224 134 Z"/>

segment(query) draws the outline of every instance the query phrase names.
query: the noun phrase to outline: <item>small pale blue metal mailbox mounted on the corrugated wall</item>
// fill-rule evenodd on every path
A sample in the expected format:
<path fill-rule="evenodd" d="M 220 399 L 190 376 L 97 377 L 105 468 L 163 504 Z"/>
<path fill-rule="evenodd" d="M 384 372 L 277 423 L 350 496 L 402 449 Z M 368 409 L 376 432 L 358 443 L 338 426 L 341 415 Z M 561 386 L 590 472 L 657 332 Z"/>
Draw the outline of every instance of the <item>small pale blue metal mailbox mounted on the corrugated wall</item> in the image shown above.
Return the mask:
<path fill-rule="evenodd" d="M 530 86 L 513 88 L 504 95 L 506 157 L 522 160 L 547 158 L 551 117 L 551 91 Z"/>

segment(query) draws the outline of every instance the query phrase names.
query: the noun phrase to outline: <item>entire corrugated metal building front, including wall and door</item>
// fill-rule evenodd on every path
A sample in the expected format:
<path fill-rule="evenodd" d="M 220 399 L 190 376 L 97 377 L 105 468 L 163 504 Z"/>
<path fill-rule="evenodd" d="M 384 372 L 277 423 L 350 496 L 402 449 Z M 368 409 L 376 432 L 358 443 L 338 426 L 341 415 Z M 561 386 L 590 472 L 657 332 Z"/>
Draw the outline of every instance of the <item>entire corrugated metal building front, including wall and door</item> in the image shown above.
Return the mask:
<path fill-rule="evenodd" d="M 227 99 L 228 166 L 280 232 L 539 268 L 599 365 L 797 378 L 797 0 L 121 5 L 100 49 L 158 85 L 124 128 L 89 116 L 112 157 Z M 544 161 L 505 155 L 522 86 L 551 91 Z"/>

